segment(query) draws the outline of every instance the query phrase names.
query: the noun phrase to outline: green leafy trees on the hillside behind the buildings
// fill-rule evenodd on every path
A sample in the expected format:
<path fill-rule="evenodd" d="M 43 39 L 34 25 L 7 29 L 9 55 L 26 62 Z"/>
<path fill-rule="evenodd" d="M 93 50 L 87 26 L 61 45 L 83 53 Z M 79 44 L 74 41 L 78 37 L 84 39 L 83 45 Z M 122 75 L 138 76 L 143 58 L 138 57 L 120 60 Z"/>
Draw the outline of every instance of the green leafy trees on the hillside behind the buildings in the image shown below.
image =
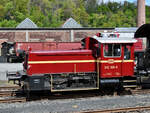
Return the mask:
<path fill-rule="evenodd" d="M 60 27 L 74 18 L 83 27 L 135 27 L 137 6 L 134 3 L 98 0 L 0 0 L 0 27 L 16 27 L 30 18 L 39 27 Z M 99 0 L 100 1 L 100 0 Z M 146 21 L 150 21 L 146 6 Z"/>

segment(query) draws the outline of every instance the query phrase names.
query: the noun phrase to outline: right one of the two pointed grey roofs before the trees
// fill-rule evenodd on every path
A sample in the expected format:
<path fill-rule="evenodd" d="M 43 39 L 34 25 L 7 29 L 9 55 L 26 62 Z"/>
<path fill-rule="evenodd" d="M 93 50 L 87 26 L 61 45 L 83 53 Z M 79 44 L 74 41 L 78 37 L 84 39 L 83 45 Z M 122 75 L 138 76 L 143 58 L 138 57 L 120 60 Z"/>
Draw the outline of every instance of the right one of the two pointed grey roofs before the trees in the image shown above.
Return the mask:
<path fill-rule="evenodd" d="M 69 18 L 63 25 L 62 28 L 82 28 L 73 18 Z"/>

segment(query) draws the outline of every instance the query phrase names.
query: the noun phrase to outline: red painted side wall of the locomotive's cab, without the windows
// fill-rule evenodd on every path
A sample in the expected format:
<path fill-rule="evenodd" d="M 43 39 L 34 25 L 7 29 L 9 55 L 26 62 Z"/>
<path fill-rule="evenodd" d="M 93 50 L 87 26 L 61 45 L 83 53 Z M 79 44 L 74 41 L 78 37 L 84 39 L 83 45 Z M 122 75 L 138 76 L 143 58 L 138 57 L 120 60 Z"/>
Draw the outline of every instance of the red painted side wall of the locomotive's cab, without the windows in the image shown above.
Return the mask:
<path fill-rule="evenodd" d="M 122 44 L 123 45 L 123 44 Z M 128 44 L 124 44 L 128 45 Z M 131 46 L 131 58 L 129 60 L 134 61 L 134 45 Z M 134 62 L 124 62 L 124 47 L 121 48 L 120 57 L 104 57 L 103 45 L 101 45 L 102 57 L 99 58 L 102 61 L 108 61 L 108 63 L 99 63 L 100 77 L 101 78 L 112 78 L 112 77 L 123 77 L 123 76 L 133 76 L 134 75 Z M 115 62 L 120 61 L 120 62 Z"/>

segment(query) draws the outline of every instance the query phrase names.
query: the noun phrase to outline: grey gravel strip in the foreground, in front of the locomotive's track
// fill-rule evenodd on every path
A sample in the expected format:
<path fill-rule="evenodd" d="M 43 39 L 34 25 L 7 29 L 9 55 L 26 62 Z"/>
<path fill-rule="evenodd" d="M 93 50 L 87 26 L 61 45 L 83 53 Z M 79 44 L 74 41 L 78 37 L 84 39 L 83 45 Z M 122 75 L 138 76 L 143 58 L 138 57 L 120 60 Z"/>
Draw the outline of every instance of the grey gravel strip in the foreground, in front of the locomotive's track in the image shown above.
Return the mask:
<path fill-rule="evenodd" d="M 149 106 L 150 94 L 0 104 L 0 113 L 70 113 L 97 109 Z"/>

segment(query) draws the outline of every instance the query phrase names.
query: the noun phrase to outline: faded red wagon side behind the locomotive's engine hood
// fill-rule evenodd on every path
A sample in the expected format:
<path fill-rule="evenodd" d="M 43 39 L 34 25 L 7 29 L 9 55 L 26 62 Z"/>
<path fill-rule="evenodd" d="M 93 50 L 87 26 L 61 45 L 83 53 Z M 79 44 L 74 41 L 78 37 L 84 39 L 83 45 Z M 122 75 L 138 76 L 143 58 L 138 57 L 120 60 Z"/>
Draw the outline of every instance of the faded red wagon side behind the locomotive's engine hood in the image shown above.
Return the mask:
<path fill-rule="evenodd" d="M 16 42 L 15 51 L 18 56 L 18 50 L 27 51 L 48 51 L 48 50 L 74 50 L 82 48 L 79 42 Z"/>

